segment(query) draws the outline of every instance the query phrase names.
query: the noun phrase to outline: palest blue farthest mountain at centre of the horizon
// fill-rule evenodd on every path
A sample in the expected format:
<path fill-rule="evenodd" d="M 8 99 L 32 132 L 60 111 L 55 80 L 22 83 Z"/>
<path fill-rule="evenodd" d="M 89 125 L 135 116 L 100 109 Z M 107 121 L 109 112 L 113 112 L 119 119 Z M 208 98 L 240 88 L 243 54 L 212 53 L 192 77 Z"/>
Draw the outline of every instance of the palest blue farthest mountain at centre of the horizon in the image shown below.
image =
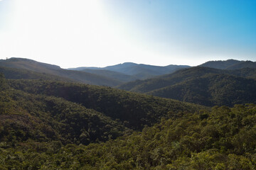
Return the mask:
<path fill-rule="evenodd" d="M 129 76 L 135 77 L 136 79 L 147 79 L 149 77 L 155 77 L 163 74 L 169 74 L 175 72 L 178 69 L 188 68 L 186 65 L 168 65 L 166 67 L 153 66 L 147 64 L 135 64 L 132 62 L 124 62 L 123 64 L 117 64 L 107 67 L 78 67 L 72 70 L 109 70 L 112 72 L 119 72 L 122 74 L 127 74 Z"/>

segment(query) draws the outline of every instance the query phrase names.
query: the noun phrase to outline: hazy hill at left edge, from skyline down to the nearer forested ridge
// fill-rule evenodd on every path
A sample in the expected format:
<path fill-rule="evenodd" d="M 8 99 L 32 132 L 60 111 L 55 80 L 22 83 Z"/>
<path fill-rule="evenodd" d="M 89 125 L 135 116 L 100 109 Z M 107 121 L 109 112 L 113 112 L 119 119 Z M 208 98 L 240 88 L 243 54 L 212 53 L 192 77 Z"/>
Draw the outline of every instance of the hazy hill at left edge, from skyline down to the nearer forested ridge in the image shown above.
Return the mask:
<path fill-rule="evenodd" d="M 86 84 L 96 84 L 100 86 L 117 86 L 118 84 L 122 83 L 122 81 L 117 81 L 115 79 L 104 77 L 102 75 L 61 69 L 60 67 L 52 64 L 36 62 L 23 58 L 10 58 L 7 60 L 0 60 L 0 67 L 4 67 L 4 70 L 2 72 L 4 72 L 4 74 L 6 74 L 6 78 L 8 77 L 9 79 L 17 79 L 18 77 L 21 77 L 22 79 L 31 77 L 32 79 L 34 79 L 36 78 L 35 75 L 38 74 L 40 76 L 38 77 L 38 79 L 57 77 L 62 81 L 68 80 Z M 6 67 L 8 67 L 9 69 L 6 69 Z M 18 73 L 19 76 L 14 74 L 14 72 L 17 72 L 17 69 L 21 72 Z M 44 77 L 42 74 L 47 74 L 47 76 Z"/>

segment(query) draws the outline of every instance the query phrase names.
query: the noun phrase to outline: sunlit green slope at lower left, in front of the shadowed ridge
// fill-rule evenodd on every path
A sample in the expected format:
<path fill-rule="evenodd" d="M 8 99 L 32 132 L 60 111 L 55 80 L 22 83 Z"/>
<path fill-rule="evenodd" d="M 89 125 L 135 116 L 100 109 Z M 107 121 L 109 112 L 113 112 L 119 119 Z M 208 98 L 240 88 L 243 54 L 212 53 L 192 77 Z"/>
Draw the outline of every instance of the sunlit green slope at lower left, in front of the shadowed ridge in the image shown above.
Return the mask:
<path fill-rule="evenodd" d="M 11 88 L 2 76 L 0 79 L 0 143 L 58 140 L 89 144 L 130 131 L 93 109 L 63 98 L 28 94 Z"/>

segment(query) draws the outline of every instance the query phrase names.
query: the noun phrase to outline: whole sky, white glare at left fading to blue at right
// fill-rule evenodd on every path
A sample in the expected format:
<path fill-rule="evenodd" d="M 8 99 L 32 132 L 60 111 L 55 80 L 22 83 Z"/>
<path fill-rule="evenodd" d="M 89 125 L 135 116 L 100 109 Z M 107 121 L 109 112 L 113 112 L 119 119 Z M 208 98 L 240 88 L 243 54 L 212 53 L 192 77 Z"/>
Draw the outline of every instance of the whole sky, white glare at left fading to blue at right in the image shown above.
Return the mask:
<path fill-rule="evenodd" d="M 0 59 L 62 68 L 256 61 L 255 0 L 0 0 Z"/>

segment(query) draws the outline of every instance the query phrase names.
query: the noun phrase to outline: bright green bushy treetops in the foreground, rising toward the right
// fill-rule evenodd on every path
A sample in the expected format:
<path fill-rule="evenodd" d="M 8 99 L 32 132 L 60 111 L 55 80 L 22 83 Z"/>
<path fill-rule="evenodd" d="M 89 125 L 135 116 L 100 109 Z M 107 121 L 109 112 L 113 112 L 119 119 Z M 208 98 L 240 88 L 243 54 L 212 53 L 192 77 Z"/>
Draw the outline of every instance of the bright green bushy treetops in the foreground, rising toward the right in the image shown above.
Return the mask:
<path fill-rule="evenodd" d="M 1 142 L 1 168 L 255 169 L 255 123 L 255 105 L 216 106 L 105 143 Z"/>

